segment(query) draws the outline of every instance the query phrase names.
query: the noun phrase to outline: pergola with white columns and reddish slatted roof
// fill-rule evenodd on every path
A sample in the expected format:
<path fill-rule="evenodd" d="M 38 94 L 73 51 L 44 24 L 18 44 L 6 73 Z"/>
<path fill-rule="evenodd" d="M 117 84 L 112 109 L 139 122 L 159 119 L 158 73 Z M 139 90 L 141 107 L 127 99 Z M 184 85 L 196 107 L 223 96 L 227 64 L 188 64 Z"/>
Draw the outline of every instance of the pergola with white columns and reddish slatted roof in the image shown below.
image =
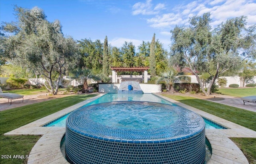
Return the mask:
<path fill-rule="evenodd" d="M 110 67 L 110 69 L 112 70 L 112 83 L 116 83 L 117 82 L 117 72 L 144 72 L 142 73 L 144 76 L 144 83 L 148 82 L 148 66 L 145 67 L 132 67 L 132 68 L 128 68 L 128 67 Z"/>

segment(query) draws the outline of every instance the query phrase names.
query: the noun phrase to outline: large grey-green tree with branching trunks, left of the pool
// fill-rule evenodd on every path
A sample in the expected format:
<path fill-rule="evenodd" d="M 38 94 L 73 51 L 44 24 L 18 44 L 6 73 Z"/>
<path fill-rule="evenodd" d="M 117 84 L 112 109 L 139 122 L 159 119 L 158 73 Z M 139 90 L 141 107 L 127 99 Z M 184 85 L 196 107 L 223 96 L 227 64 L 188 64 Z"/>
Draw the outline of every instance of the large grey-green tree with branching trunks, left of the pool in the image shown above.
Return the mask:
<path fill-rule="evenodd" d="M 72 37 L 64 37 L 60 21 L 49 22 L 38 7 L 31 10 L 14 7 L 17 22 L 4 23 L 11 33 L 5 41 L 5 55 L 11 62 L 46 78 L 44 86 L 51 94 L 58 93 L 59 81 L 80 56 Z"/>

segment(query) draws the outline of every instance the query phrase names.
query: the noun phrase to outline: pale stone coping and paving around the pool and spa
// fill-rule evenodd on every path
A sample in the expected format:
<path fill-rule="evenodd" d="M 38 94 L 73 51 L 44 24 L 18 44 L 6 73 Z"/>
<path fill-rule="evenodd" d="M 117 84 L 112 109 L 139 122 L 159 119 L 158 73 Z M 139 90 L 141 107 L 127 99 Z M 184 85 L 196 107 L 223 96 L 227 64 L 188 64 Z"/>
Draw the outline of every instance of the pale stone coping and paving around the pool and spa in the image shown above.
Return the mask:
<path fill-rule="evenodd" d="M 32 148 L 29 157 L 28 164 L 32 163 L 61 163 L 69 164 L 64 158 L 60 150 L 60 142 L 62 137 L 65 135 L 65 127 L 42 127 L 46 123 L 65 115 L 78 107 L 81 107 L 93 100 L 103 96 L 100 94 L 85 100 L 84 102 L 77 103 L 71 107 L 48 115 L 42 119 L 38 119 L 32 123 L 14 129 L 8 133 L 5 133 L 5 136 L 10 135 L 41 135 L 42 137 Z M 165 100 L 168 100 L 172 103 L 176 103 L 179 106 L 185 107 L 210 119 L 228 129 L 206 129 L 206 138 L 212 146 L 212 156 L 207 164 L 226 164 L 226 163 L 240 163 L 248 164 L 248 160 L 242 153 L 242 151 L 234 144 L 229 137 L 246 137 L 246 138 L 256 138 L 256 131 L 252 131 L 220 117 L 216 117 L 194 107 L 190 107 L 184 103 L 177 102 L 160 94 L 155 94 Z"/>

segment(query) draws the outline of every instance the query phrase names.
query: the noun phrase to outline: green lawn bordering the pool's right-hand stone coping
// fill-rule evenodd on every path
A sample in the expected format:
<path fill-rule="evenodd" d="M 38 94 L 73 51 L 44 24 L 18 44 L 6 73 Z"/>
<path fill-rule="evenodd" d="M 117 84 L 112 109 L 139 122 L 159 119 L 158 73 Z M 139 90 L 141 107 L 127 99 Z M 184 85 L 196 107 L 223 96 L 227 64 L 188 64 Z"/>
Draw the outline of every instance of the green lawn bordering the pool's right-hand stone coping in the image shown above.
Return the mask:
<path fill-rule="evenodd" d="M 256 112 L 222 105 L 220 103 L 214 103 L 207 100 L 200 100 L 190 96 L 173 96 L 167 94 L 163 94 L 163 96 L 256 131 Z M 251 164 L 256 164 L 256 138 L 232 138 L 232 141 L 234 141 L 244 152 Z"/>

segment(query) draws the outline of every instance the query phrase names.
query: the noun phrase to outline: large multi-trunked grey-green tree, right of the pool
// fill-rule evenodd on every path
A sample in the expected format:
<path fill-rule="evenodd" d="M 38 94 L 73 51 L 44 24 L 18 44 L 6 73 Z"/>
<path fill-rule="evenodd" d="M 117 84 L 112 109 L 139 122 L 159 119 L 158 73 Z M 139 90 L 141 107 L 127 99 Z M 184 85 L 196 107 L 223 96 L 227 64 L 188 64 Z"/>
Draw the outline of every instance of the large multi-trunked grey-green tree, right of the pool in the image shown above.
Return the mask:
<path fill-rule="evenodd" d="M 210 82 L 205 96 L 215 80 L 230 68 L 240 65 L 240 57 L 256 58 L 255 25 L 246 28 L 246 17 L 240 16 L 221 23 L 214 30 L 210 26 L 210 13 L 190 18 L 189 27 L 176 26 L 172 33 L 172 59 L 188 67 L 196 76 L 201 88 L 200 74 L 208 73 Z M 240 53 L 242 52 L 242 53 Z M 210 71 L 210 64 L 215 67 Z"/>

